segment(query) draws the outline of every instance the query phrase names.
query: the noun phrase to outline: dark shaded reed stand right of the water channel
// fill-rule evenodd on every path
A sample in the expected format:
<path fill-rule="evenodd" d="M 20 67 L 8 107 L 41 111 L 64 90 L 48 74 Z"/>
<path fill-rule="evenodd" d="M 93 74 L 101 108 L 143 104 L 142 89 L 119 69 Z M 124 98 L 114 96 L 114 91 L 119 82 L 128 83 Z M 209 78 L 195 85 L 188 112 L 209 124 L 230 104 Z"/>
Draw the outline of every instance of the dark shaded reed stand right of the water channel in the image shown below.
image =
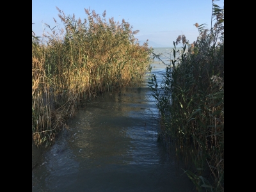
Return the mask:
<path fill-rule="evenodd" d="M 178 36 L 163 86 L 157 88 L 154 76 L 150 85 L 161 117 L 159 140 L 174 143 L 186 163 L 191 158 L 186 174 L 196 191 L 224 191 L 224 8 L 214 2 L 212 21 L 210 30 L 195 24 L 193 44 Z"/>

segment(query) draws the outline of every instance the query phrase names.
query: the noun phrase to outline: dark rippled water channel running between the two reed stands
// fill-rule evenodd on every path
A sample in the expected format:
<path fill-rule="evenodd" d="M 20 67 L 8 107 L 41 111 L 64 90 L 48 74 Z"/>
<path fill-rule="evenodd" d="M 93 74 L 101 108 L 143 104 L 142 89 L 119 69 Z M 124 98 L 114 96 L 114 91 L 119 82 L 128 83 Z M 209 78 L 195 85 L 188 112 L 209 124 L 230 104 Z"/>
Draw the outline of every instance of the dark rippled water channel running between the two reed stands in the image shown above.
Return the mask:
<path fill-rule="evenodd" d="M 175 157 L 157 143 L 157 113 L 147 84 L 93 100 L 38 161 L 33 191 L 190 191 Z"/>

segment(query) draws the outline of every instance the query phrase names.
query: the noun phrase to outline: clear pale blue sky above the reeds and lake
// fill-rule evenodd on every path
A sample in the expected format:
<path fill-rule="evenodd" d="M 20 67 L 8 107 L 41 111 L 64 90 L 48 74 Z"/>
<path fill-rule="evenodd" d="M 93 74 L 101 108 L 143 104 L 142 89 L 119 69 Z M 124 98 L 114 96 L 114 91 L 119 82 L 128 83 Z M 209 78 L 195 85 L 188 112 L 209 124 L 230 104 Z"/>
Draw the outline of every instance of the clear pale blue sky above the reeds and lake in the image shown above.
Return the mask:
<path fill-rule="evenodd" d="M 214 3 L 223 7 L 224 1 Z M 198 36 L 196 22 L 211 28 L 212 0 L 32 0 L 32 30 L 36 36 L 47 30 L 44 23 L 53 28 L 56 19 L 62 25 L 56 6 L 65 15 L 74 13 L 81 20 L 87 19 L 84 8 L 99 15 L 106 10 L 107 19 L 129 22 L 132 30 L 140 30 L 135 37 L 141 43 L 148 39 L 152 47 L 173 47 L 179 35 L 185 35 L 193 43 Z"/>

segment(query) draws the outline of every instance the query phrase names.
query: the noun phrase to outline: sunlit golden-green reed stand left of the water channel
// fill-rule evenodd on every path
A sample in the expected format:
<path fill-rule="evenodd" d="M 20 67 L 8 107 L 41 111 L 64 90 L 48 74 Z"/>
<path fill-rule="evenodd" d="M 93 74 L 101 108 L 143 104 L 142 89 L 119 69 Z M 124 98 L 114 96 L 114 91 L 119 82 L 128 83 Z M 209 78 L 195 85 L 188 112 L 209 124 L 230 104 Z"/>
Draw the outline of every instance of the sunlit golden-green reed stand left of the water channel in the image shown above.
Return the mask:
<path fill-rule="evenodd" d="M 106 12 L 99 17 L 84 9 L 88 19 L 66 16 L 58 9 L 64 29 L 50 28 L 40 40 L 32 31 L 32 136 L 49 145 L 79 104 L 100 93 L 140 83 L 150 63 L 147 43 L 128 22 L 119 24 Z M 56 29 L 58 28 L 58 30 Z"/>

